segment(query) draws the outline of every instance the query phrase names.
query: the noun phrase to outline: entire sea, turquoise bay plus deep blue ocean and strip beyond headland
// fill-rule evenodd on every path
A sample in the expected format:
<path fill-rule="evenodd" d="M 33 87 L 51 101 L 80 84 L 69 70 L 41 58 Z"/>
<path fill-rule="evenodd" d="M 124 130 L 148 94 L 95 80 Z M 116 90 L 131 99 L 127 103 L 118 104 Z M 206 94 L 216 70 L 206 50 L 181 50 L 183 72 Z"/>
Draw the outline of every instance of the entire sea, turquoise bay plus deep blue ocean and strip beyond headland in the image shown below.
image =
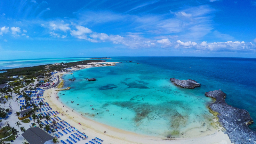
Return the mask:
<path fill-rule="evenodd" d="M 40 64 L 82 59 L 41 59 Z M 23 60 L 15 61 L 5 61 L 5 68 L 6 63 L 10 64 L 10 68 L 16 67 L 17 63 L 23 67 Z M 38 65 L 33 60 L 29 61 L 24 66 Z M 71 89 L 61 91 L 60 99 L 63 103 L 69 102 L 67 106 L 78 112 L 88 112 L 89 115 L 84 116 L 90 119 L 136 133 L 163 136 L 181 133 L 193 136 L 195 133 L 197 136 L 200 132 L 214 129 L 213 116 L 207 109 L 212 99 L 205 97 L 204 93 L 221 89 L 227 94 L 228 104 L 247 110 L 256 119 L 256 59 L 112 57 L 112 60 L 107 61 L 122 63 L 64 75 L 64 86 L 70 86 Z M 75 81 L 68 81 L 74 77 Z M 201 83 L 201 87 L 192 90 L 177 87 L 169 80 L 173 77 L 193 79 Z M 85 78 L 97 80 L 89 82 Z M 250 128 L 256 130 L 255 124 Z"/>

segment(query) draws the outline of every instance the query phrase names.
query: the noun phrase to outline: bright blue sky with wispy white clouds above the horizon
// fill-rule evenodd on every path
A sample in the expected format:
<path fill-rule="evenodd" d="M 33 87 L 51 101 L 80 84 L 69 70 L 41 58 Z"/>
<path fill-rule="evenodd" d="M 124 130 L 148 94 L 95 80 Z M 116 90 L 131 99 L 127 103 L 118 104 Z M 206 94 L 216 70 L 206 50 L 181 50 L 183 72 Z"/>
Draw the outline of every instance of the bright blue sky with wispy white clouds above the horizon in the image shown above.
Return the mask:
<path fill-rule="evenodd" d="M 256 57 L 254 0 L 3 0 L 0 60 Z"/>

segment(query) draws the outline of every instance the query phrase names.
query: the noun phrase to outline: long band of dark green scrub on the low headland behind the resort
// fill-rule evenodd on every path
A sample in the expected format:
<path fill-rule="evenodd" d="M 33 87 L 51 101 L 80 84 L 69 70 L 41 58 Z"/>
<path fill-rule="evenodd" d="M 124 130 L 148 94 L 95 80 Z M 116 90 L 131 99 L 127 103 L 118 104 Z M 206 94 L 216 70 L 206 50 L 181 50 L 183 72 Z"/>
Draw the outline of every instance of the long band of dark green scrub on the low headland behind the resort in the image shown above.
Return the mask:
<path fill-rule="evenodd" d="M 69 68 L 77 65 L 86 65 L 90 62 L 101 62 L 102 60 L 86 60 L 86 61 L 76 61 L 68 63 L 60 63 L 60 65 L 40 65 L 34 67 L 25 67 L 25 68 L 11 68 L 11 69 L 2 69 L 0 71 L 6 70 L 7 72 L 0 73 L 0 82 L 14 81 L 14 78 L 6 78 L 6 76 L 26 76 L 26 78 L 35 78 L 37 76 L 44 76 L 44 73 L 49 73 L 54 70 L 61 71 L 64 68 Z M 45 76 L 50 76 L 46 74 Z"/>

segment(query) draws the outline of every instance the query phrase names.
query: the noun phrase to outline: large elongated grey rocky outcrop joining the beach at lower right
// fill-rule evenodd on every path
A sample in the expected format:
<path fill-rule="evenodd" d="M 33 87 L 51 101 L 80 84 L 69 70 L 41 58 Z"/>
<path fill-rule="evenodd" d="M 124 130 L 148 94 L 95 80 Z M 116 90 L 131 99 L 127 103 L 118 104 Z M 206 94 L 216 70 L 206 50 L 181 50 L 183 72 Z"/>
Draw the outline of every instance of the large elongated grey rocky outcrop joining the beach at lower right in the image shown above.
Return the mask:
<path fill-rule="evenodd" d="M 219 122 L 222 124 L 230 140 L 235 144 L 256 143 L 256 131 L 252 131 L 248 125 L 253 123 L 249 112 L 228 105 L 225 102 L 226 94 L 221 90 L 214 90 L 205 93 L 205 96 L 215 98 L 216 101 L 209 105 L 209 108 L 218 112 Z"/>

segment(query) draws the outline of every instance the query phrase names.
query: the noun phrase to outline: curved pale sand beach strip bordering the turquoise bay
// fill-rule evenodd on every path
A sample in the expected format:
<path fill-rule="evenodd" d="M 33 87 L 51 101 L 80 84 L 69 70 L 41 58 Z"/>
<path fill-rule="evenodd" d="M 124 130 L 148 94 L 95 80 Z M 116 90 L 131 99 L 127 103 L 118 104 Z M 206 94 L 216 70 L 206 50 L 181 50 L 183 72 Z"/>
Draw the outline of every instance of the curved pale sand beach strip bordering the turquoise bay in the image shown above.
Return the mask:
<path fill-rule="evenodd" d="M 84 69 L 84 68 L 90 68 L 92 66 L 86 65 L 86 67 L 81 66 L 81 68 L 72 68 L 72 71 Z M 70 72 L 69 72 L 70 73 Z M 67 72 L 59 73 L 61 74 L 67 74 Z M 63 81 L 62 77 L 60 76 L 60 80 Z M 79 131 L 84 132 L 86 135 L 89 136 L 89 139 L 96 137 L 99 137 L 103 139 L 104 141 L 110 142 L 110 143 L 202 143 L 204 141 L 205 144 L 219 144 L 220 142 L 226 144 L 231 143 L 229 140 L 229 137 L 227 134 L 224 134 L 221 129 L 222 127 L 219 127 L 219 129 L 212 130 L 213 134 L 208 134 L 206 136 L 199 136 L 199 137 L 192 137 L 192 138 L 175 138 L 175 139 L 167 139 L 167 138 L 161 138 L 157 136 L 150 136 L 150 135 L 142 135 L 138 133 L 133 133 L 129 131 L 125 131 L 122 129 L 115 128 L 113 126 L 108 126 L 105 124 L 102 124 L 100 122 L 94 121 L 92 119 L 86 118 L 84 116 L 81 116 L 78 114 L 78 112 L 74 111 L 72 112 L 72 108 L 66 106 L 65 104 L 62 104 L 61 100 L 57 100 L 58 92 L 55 91 L 57 88 L 51 88 L 49 90 L 45 90 L 44 96 L 51 97 L 45 97 L 45 100 L 54 108 L 54 110 L 61 111 L 68 110 L 69 115 L 63 115 L 60 116 L 61 119 L 64 119 L 68 121 L 72 126 L 76 127 Z M 56 93 L 56 94 L 53 94 Z M 56 102 L 54 104 L 53 102 Z M 64 107 L 63 107 L 64 106 Z M 67 113 L 65 113 L 67 114 Z M 74 118 L 73 118 L 74 117 Z M 80 126 L 78 123 L 81 123 L 82 126 Z M 81 130 L 82 128 L 85 128 L 85 130 Z M 103 131 L 107 131 L 107 133 L 103 133 Z M 220 144 L 221 144 L 220 143 Z"/>

